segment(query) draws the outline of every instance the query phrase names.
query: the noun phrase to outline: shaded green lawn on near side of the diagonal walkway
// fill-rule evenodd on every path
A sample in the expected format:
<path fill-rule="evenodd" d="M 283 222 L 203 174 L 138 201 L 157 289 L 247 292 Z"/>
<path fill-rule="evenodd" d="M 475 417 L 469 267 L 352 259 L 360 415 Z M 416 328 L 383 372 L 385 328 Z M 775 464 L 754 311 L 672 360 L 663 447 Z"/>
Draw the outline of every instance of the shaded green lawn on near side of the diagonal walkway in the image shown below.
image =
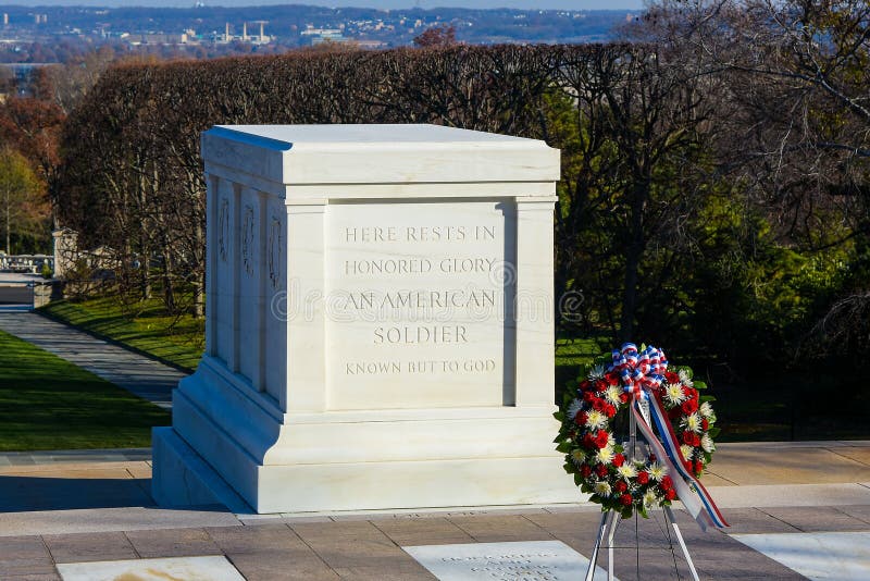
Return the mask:
<path fill-rule="evenodd" d="M 169 411 L 0 331 L 0 450 L 147 447 Z"/>

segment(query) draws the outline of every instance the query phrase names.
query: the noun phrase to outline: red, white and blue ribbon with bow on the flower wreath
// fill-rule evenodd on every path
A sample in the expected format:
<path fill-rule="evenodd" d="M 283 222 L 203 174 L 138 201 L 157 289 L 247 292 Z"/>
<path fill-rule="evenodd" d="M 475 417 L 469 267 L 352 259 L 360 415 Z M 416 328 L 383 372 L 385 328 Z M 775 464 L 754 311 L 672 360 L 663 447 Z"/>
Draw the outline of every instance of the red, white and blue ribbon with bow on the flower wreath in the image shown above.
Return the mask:
<path fill-rule="evenodd" d="M 643 353 L 638 353 L 636 345 L 626 343 L 620 350 L 613 350 L 612 359 L 613 363 L 608 371 L 618 373 L 622 380 L 623 390 L 631 397 L 631 411 L 644 440 L 671 473 L 682 477 L 672 479 L 680 502 L 701 529 L 706 530 L 708 526 L 728 527 L 707 489 L 685 468 L 686 460 L 671 421 L 651 393 L 664 382 L 664 372 L 668 370 L 664 351 L 646 347 Z M 641 412 L 643 399 L 649 401 L 649 415 L 656 424 L 658 436 Z"/>

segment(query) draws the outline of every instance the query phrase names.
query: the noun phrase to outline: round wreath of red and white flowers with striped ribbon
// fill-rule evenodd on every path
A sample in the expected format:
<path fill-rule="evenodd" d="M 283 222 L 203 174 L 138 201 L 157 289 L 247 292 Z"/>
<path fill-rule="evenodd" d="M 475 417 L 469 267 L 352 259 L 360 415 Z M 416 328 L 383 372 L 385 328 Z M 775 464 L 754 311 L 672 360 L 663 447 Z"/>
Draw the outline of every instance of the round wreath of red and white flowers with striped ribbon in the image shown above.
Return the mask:
<path fill-rule="evenodd" d="M 716 449 L 711 396 L 700 395 L 687 367 L 668 369 L 664 353 L 626 343 L 587 367 L 556 413 L 561 429 L 557 449 L 581 491 L 602 510 L 623 518 L 669 506 L 679 498 L 706 527 L 726 526 L 697 478 Z M 617 435 L 627 432 L 630 415 L 649 448 L 629 457 Z M 655 427 L 655 431 L 654 431 Z"/>

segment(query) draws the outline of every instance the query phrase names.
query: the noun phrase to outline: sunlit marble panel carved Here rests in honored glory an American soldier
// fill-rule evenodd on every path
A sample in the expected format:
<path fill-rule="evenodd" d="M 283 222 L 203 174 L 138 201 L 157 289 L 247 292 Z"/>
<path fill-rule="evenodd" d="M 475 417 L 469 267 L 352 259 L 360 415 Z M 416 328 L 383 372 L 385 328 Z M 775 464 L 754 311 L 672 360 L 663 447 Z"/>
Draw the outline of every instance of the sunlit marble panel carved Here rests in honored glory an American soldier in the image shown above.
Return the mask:
<path fill-rule="evenodd" d="M 327 267 L 333 381 L 371 397 L 414 382 L 433 405 L 450 382 L 469 405 L 499 403 L 511 220 L 496 202 L 338 206 Z"/>

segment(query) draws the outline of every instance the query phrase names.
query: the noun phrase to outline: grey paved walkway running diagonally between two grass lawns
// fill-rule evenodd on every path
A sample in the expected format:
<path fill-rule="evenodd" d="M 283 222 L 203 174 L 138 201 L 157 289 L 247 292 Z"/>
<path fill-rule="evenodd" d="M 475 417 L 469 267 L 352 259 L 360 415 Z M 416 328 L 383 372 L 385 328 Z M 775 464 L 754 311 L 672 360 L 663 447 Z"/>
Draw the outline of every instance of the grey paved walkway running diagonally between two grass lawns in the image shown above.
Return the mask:
<path fill-rule="evenodd" d="M 0 308 L 0 329 L 163 408 L 172 407 L 172 390 L 185 376 L 153 359 L 21 308 Z"/>

